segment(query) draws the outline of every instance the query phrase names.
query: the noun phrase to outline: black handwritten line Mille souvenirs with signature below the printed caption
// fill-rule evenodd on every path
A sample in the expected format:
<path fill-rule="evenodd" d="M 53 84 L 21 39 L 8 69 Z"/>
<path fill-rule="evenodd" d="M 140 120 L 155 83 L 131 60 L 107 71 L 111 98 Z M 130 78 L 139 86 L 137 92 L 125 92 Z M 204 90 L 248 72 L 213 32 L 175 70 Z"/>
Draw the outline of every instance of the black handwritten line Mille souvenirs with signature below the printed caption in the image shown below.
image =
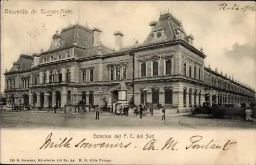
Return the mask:
<path fill-rule="evenodd" d="M 71 145 L 71 142 L 73 142 L 73 137 L 65 137 L 63 139 L 59 138 L 59 143 L 56 143 L 52 140 L 53 133 L 50 133 L 46 139 L 45 142 L 41 145 L 39 150 L 47 149 L 47 148 L 128 148 L 132 146 L 132 142 L 129 143 L 90 143 L 86 141 L 86 138 L 83 138 L 78 143 L 75 143 L 75 145 Z M 211 139 L 208 143 L 202 143 L 201 140 L 203 139 L 203 136 L 196 135 L 191 136 L 189 138 L 189 142 L 184 148 L 185 150 L 194 150 L 194 149 L 222 149 L 227 150 L 230 148 L 232 144 L 235 144 L 237 142 L 231 142 L 231 140 L 227 140 L 226 143 L 220 143 L 218 140 Z M 160 143 L 158 145 L 158 143 Z M 159 147 L 161 146 L 161 147 Z M 137 147 L 135 147 L 137 148 Z M 165 143 L 158 142 L 158 139 L 151 139 L 149 142 L 147 142 L 142 150 L 146 151 L 157 151 L 159 150 L 178 150 L 178 141 L 175 140 L 173 137 L 168 138 Z"/>

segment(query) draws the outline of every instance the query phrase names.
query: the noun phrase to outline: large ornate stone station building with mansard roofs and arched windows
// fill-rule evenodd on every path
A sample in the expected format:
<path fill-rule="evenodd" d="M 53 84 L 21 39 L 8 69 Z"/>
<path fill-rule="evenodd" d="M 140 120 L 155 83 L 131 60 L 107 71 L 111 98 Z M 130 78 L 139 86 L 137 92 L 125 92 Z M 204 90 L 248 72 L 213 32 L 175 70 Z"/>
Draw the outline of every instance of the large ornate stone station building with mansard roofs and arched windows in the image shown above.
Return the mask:
<path fill-rule="evenodd" d="M 125 101 L 186 109 L 203 102 L 241 105 L 255 102 L 255 91 L 217 69 L 204 65 L 203 49 L 194 47 L 181 22 L 170 13 L 150 22 L 152 31 L 141 44 L 115 48 L 100 40 L 101 30 L 79 24 L 52 36 L 49 50 L 20 55 L 5 73 L 5 92 L 12 104 L 38 108 L 83 102 L 113 106 L 120 84 Z"/>

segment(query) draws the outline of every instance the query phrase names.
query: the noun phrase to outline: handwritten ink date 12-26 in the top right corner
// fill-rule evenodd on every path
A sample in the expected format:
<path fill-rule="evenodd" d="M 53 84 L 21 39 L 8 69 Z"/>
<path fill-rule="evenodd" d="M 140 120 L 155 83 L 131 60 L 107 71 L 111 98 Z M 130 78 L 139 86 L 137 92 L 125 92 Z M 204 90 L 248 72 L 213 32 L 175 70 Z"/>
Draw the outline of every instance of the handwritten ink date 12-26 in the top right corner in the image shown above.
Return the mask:
<path fill-rule="evenodd" d="M 219 10 L 234 10 L 234 11 L 254 11 L 255 7 L 254 6 L 249 6 L 249 5 L 245 5 L 245 6 L 240 6 L 239 4 L 233 4 L 233 5 L 228 5 L 226 3 L 222 3 L 220 5 L 218 5 L 220 8 Z"/>

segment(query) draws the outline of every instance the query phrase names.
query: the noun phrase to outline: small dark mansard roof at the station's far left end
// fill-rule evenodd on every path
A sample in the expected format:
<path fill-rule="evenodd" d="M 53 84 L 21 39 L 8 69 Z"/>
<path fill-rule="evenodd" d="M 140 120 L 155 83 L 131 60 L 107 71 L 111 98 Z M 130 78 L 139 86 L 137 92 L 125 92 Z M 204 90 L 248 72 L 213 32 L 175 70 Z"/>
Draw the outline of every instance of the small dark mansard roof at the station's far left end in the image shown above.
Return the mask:
<path fill-rule="evenodd" d="M 13 64 L 14 65 L 12 66 L 10 72 L 30 69 L 33 65 L 33 56 L 22 54 Z"/>

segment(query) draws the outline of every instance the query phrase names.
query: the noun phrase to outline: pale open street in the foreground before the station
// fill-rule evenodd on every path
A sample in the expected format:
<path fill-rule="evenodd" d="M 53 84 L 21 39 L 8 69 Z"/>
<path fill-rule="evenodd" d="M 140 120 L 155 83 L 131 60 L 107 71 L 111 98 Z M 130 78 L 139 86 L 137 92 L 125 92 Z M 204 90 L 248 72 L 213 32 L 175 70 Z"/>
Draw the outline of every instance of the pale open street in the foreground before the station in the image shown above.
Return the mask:
<path fill-rule="evenodd" d="M 135 114 L 130 116 L 114 115 L 109 112 L 100 114 L 100 120 L 95 120 L 95 112 L 85 114 L 63 114 L 47 112 L 1 112 L 1 128 L 170 128 L 170 129 L 218 129 L 242 128 L 255 129 L 256 122 L 246 122 L 238 119 L 211 119 L 210 117 L 191 117 L 174 114 L 166 116 L 161 121 L 159 114 L 151 117 L 149 114 L 139 119 Z"/>

